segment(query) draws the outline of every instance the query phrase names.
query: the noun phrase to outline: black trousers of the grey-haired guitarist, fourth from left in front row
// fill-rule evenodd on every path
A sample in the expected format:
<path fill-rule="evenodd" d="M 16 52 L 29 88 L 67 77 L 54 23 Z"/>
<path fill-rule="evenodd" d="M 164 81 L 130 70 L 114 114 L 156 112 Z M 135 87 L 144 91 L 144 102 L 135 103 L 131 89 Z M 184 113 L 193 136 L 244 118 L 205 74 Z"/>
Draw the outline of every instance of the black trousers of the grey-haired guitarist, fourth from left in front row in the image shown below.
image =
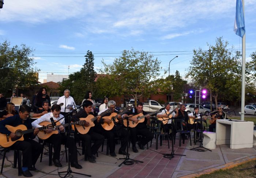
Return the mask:
<path fill-rule="evenodd" d="M 107 131 L 105 129 L 103 129 L 102 127 L 97 127 L 94 128 L 94 131 L 97 133 L 100 133 L 102 135 L 104 135 L 109 142 L 109 152 L 115 152 L 115 147 L 116 147 L 116 143 L 115 143 L 115 138 L 119 137 L 121 139 L 121 151 L 125 151 L 127 144 L 128 144 L 128 140 L 129 140 L 129 132 L 127 131 L 127 129 L 124 129 L 121 125 L 117 124 L 116 126 L 113 127 L 113 129 Z"/>

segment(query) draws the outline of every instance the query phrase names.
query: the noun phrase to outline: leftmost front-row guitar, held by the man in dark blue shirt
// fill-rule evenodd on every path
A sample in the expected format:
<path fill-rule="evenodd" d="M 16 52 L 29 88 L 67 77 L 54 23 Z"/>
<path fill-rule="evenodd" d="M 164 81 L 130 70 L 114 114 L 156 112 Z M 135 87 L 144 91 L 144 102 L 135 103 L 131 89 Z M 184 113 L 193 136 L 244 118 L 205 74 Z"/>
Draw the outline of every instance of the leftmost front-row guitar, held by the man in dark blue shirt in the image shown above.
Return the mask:
<path fill-rule="evenodd" d="M 13 127 L 11 125 L 5 125 L 5 127 L 11 131 L 12 133 L 16 134 L 15 138 L 11 138 L 10 136 L 7 136 L 3 133 L 0 133 L 0 145 L 4 148 L 12 146 L 15 142 L 17 141 L 22 141 L 24 140 L 23 135 L 26 133 L 33 133 L 35 131 L 35 128 L 32 129 L 27 129 L 27 127 L 23 124 L 17 125 L 16 127 Z M 39 127 L 39 131 L 44 130 L 44 129 L 50 129 L 53 128 L 51 125 L 47 125 L 45 127 Z"/>

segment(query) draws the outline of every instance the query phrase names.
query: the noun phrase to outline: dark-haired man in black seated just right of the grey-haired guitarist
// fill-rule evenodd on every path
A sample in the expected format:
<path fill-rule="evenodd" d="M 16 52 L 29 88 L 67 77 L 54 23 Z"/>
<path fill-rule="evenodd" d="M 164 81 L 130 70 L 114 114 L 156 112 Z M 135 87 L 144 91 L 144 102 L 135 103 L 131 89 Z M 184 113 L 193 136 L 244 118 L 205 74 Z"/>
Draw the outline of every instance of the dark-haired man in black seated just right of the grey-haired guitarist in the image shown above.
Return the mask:
<path fill-rule="evenodd" d="M 143 111 L 143 103 L 138 102 L 137 107 L 133 108 L 132 111 L 129 111 L 123 115 L 123 118 L 129 117 L 128 115 L 136 115 L 142 113 L 143 115 L 147 115 L 145 111 Z M 138 123 L 138 119 L 136 118 L 129 118 L 129 120 L 132 120 L 135 123 Z M 124 120 L 124 122 L 126 122 Z M 143 123 L 139 123 L 136 127 L 131 128 L 131 142 L 132 142 L 132 151 L 138 152 L 136 148 L 136 139 L 137 135 L 142 135 L 144 138 L 140 142 L 138 142 L 138 146 L 140 150 L 144 150 L 144 145 L 146 145 L 150 140 L 154 138 L 153 133 L 150 132 L 150 130 L 147 128 L 147 125 L 150 125 L 150 117 L 146 117 Z"/>

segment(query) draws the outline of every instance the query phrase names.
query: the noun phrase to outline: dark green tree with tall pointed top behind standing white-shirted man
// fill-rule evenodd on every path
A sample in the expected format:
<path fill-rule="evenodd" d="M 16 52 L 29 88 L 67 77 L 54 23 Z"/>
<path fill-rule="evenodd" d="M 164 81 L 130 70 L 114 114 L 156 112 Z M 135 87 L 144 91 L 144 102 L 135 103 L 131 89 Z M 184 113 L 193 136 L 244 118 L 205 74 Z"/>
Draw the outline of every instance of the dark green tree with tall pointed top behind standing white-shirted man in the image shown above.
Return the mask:
<path fill-rule="evenodd" d="M 94 56 L 91 51 L 87 51 L 85 57 L 85 63 L 80 71 L 69 75 L 68 80 L 60 83 L 61 93 L 65 89 L 69 89 L 71 95 L 74 97 L 75 101 L 81 103 L 84 99 L 87 91 L 94 93 L 95 91 L 95 78 L 96 72 L 94 70 Z"/>

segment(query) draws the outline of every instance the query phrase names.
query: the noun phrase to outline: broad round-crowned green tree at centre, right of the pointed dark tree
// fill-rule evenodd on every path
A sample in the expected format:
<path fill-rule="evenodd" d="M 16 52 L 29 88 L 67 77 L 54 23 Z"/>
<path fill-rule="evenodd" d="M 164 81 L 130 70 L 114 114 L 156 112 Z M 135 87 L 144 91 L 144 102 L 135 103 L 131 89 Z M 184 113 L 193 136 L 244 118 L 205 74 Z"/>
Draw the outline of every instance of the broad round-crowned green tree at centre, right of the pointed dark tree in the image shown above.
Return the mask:
<path fill-rule="evenodd" d="M 133 96 L 135 101 L 142 96 L 150 96 L 157 92 L 153 87 L 153 80 L 159 77 L 158 59 L 148 52 L 124 50 L 123 55 L 114 59 L 113 64 L 107 65 L 102 61 L 104 69 L 102 73 L 106 77 L 101 79 L 104 84 L 110 83 L 107 87 L 109 96 L 128 94 Z"/>

